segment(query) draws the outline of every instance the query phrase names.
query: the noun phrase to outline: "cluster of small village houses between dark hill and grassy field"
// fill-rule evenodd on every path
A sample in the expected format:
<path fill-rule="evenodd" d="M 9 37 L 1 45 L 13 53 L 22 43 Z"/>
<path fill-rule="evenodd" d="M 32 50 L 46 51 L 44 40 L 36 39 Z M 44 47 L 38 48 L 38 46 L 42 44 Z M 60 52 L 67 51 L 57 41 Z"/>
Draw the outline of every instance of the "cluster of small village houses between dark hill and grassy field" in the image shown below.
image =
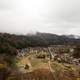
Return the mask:
<path fill-rule="evenodd" d="M 33 47 L 18 50 L 18 57 L 35 55 L 36 58 L 50 58 L 58 62 L 65 62 L 69 64 L 80 64 L 80 58 L 73 58 L 75 46 L 70 45 L 53 45 L 50 47 Z"/>

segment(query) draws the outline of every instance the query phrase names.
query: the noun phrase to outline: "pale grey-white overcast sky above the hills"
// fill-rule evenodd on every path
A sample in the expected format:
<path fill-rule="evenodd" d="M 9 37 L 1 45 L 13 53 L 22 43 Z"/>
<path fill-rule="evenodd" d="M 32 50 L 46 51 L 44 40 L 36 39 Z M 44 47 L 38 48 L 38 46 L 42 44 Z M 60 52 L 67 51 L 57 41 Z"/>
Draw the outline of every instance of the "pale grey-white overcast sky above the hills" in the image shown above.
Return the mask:
<path fill-rule="evenodd" d="M 0 0 L 0 32 L 80 35 L 80 0 Z"/>

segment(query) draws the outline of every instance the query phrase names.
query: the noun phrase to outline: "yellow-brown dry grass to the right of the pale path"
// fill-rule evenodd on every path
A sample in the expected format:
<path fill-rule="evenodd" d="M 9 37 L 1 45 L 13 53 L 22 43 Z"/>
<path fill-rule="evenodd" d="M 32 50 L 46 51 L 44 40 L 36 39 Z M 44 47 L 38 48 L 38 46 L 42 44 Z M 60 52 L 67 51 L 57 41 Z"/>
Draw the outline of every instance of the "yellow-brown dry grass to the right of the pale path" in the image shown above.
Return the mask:
<path fill-rule="evenodd" d="M 51 67 L 54 70 L 53 74 L 55 76 L 55 80 L 77 80 L 80 77 L 77 68 L 73 65 L 64 65 L 57 62 L 52 62 Z"/>

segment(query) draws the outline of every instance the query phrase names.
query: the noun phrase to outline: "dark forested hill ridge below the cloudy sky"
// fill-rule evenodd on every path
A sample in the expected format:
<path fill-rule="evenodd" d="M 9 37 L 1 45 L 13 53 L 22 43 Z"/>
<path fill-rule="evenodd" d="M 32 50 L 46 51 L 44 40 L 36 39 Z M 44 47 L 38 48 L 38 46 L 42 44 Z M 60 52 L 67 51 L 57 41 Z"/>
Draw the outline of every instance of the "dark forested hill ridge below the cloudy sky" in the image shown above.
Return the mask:
<path fill-rule="evenodd" d="M 80 45 L 80 38 L 39 32 L 34 35 L 0 33 L 0 53 L 16 54 L 17 49 L 50 45 Z"/>

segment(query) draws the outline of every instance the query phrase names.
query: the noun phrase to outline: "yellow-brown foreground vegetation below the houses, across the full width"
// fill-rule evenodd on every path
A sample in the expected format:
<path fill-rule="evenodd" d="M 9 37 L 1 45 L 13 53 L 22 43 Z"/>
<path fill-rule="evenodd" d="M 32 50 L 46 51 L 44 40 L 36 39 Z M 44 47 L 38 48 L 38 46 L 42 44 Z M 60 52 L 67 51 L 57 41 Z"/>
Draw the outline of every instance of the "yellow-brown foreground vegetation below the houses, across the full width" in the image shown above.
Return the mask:
<path fill-rule="evenodd" d="M 15 68 L 0 64 L 0 80 L 80 80 L 78 65 L 31 58 L 18 59 Z"/>

